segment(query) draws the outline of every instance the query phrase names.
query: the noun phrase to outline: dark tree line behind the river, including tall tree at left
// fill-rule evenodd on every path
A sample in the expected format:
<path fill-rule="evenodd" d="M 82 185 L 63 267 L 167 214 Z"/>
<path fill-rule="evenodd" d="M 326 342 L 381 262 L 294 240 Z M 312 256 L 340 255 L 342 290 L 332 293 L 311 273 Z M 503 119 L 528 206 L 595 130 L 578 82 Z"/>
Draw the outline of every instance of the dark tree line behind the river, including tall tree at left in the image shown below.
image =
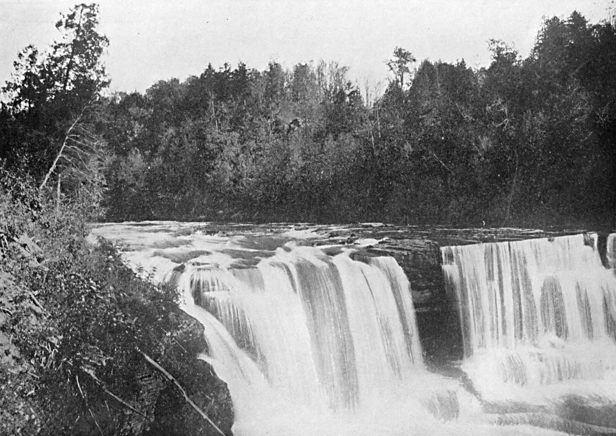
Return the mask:
<path fill-rule="evenodd" d="M 82 5 L 3 88 L 0 158 L 84 220 L 612 223 L 616 32 L 545 19 L 530 55 L 469 68 L 395 47 L 365 101 L 335 62 L 208 65 L 105 96 Z"/>

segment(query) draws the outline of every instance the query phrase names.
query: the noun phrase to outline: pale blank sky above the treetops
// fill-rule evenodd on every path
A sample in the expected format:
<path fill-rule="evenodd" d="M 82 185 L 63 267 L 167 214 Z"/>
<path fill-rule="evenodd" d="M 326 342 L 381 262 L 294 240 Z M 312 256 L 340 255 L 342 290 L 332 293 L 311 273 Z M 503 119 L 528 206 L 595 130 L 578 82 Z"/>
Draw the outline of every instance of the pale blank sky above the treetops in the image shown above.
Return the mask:
<path fill-rule="evenodd" d="M 54 24 L 77 1 L 0 0 L 0 84 L 17 53 L 60 39 Z M 111 91 L 144 92 L 158 80 L 200 75 L 211 63 L 265 70 L 299 62 L 339 62 L 348 78 L 378 91 L 395 47 L 419 61 L 490 62 L 488 39 L 529 54 L 543 17 L 578 10 L 592 23 L 614 0 L 101 0 L 101 33 Z M 611 8 L 611 9 L 610 9 Z"/>

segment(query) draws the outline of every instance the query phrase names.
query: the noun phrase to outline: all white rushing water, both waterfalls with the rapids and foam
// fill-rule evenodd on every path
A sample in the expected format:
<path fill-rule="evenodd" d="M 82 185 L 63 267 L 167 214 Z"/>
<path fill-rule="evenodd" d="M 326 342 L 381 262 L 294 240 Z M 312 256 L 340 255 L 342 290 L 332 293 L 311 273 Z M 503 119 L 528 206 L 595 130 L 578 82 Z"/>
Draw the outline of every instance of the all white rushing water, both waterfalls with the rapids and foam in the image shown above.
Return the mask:
<path fill-rule="evenodd" d="M 616 279 L 596 236 L 442 250 L 460 302 L 467 390 L 459 371 L 426 369 L 407 277 L 394 258 L 361 248 L 375 239 L 320 245 L 310 228 L 233 231 L 97 230 L 124 247 L 137 273 L 180 290 L 208 343 L 198 357 L 229 387 L 234 436 L 555 435 L 572 428 L 571 414 L 505 416 L 493 412 L 503 403 L 490 409 L 485 400 L 529 401 L 554 389 L 615 395 Z M 607 264 L 614 238 L 605 241 Z M 616 400 L 588 398 L 576 410 L 613 415 Z M 612 421 L 576 428 L 598 433 Z"/>

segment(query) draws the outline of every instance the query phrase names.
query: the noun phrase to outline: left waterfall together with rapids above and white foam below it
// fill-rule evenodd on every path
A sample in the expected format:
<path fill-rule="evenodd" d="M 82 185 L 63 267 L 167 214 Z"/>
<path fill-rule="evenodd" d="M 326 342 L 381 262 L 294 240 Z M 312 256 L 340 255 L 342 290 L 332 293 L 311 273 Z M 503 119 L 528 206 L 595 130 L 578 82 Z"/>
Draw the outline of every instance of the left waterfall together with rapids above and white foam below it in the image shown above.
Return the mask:
<path fill-rule="evenodd" d="M 559 434 L 495 426 L 458 380 L 426 370 L 393 258 L 346 246 L 326 255 L 303 246 L 310 230 L 227 236 L 194 226 L 104 224 L 95 234 L 182 290 L 182 308 L 204 327 L 200 357 L 229 386 L 234 435 Z"/>

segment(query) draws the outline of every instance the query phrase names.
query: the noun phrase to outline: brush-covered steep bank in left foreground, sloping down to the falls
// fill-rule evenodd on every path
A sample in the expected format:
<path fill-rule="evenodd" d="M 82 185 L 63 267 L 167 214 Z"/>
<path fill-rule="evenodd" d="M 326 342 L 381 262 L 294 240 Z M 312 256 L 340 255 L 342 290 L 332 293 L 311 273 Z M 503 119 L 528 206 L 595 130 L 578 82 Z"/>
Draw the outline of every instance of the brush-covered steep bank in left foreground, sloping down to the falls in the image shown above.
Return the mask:
<path fill-rule="evenodd" d="M 145 355 L 229 434 L 229 393 L 176 290 L 60 211 L 0 169 L 0 434 L 219 434 Z"/>

